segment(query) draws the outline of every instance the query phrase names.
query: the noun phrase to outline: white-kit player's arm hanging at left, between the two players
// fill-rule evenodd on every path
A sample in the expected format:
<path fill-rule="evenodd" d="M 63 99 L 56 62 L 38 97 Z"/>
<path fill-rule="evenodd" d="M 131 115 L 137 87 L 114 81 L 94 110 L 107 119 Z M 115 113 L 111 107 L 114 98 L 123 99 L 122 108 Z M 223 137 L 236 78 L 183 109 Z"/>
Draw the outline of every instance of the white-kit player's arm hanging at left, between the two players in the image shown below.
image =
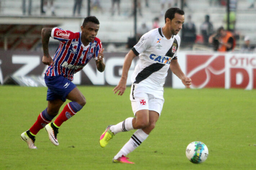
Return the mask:
<path fill-rule="evenodd" d="M 135 58 L 136 55 L 132 50 L 130 50 L 127 55 L 124 57 L 124 65 L 123 65 L 123 72 L 122 72 L 122 77 L 118 83 L 118 85 L 114 88 L 114 93 L 119 91 L 118 95 L 123 95 L 125 89 L 126 89 L 126 81 L 128 77 L 128 71 L 131 67 L 132 60 Z"/>

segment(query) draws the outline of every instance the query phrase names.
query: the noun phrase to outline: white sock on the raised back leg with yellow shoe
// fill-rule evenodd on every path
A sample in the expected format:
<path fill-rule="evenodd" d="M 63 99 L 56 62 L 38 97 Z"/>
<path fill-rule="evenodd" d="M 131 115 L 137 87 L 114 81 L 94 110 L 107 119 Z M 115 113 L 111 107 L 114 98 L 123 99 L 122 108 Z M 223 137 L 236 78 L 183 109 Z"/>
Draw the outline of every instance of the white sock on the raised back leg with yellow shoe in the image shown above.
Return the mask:
<path fill-rule="evenodd" d="M 124 121 L 111 126 L 110 131 L 116 134 L 118 132 L 127 132 L 133 130 L 134 128 L 132 127 L 132 119 L 133 118 L 127 118 Z"/>

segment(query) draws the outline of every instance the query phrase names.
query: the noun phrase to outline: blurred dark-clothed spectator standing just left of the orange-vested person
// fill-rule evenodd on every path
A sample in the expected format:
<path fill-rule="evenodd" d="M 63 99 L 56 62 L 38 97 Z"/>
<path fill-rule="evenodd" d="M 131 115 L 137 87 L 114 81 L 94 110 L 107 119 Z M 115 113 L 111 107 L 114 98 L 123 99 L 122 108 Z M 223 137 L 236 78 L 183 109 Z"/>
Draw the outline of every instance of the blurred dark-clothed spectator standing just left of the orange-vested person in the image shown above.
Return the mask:
<path fill-rule="evenodd" d="M 203 36 L 204 44 L 208 44 L 209 36 L 213 34 L 213 25 L 210 22 L 210 16 L 205 15 L 204 22 L 200 26 L 200 32 Z"/>

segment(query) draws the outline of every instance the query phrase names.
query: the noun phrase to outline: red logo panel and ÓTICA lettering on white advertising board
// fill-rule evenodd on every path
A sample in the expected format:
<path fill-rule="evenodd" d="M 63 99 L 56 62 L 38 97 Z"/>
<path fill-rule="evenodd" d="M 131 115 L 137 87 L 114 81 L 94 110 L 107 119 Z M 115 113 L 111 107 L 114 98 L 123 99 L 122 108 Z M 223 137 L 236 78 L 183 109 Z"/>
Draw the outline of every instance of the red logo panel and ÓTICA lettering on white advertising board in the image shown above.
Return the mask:
<path fill-rule="evenodd" d="M 256 89 L 256 55 L 186 55 L 194 88 Z"/>

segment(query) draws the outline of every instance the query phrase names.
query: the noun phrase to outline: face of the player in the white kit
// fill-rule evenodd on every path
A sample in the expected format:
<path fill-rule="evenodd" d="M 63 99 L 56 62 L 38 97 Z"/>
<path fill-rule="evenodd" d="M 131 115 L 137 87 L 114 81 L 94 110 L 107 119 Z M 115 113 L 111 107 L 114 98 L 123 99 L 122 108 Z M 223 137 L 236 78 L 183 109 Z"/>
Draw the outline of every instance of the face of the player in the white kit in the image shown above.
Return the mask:
<path fill-rule="evenodd" d="M 179 31 L 182 29 L 184 20 L 185 20 L 184 15 L 175 13 L 174 18 L 170 20 L 170 24 L 171 24 L 170 28 L 171 28 L 172 35 L 177 35 L 179 33 Z"/>

